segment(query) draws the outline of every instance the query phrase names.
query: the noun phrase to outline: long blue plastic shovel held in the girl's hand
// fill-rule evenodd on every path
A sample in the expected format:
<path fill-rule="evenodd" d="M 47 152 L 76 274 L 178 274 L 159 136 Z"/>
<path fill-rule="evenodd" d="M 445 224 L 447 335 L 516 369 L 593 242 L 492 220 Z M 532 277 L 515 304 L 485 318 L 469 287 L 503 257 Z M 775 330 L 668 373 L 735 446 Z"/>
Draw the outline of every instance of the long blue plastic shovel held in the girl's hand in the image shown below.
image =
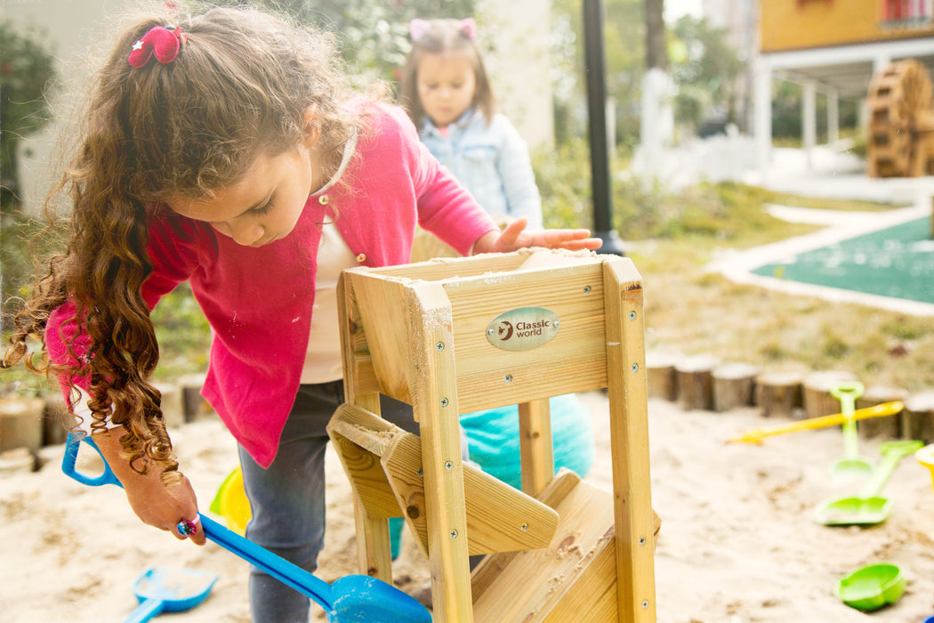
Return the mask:
<path fill-rule="evenodd" d="M 104 460 L 104 474 L 89 476 L 75 469 L 78 447 L 81 441 L 92 446 L 98 454 L 100 449 L 91 437 L 68 434 L 62 471 L 79 483 L 98 487 L 120 485 L 120 480 Z M 104 459 L 104 455 L 101 455 Z M 199 515 L 205 536 L 224 549 L 247 560 L 277 580 L 294 588 L 318 603 L 327 613 L 329 623 L 367 621 L 367 623 L 431 623 L 432 615 L 421 603 L 382 580 L 369 575 L 345 575 L 333 584 L 318 579 L 286 559 L 272 553 L 261 545 L 248 541 L 234 531 L 221 526 L 210 517 Z"/>

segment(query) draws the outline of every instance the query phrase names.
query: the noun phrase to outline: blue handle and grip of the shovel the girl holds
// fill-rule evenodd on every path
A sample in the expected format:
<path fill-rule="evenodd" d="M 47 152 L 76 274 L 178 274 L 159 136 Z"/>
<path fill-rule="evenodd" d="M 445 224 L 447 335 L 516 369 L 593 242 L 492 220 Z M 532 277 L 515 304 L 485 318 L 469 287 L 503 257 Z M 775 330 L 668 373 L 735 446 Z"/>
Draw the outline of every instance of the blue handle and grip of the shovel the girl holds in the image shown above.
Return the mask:
<path fill-rule="evenodd" d="M 82 440 L 94 448 L 97 454 L 101 455 L 101 459 L 104 460 L 103 474 L 99 476 L 89 476 L 78 472 L 75 467 L 75 462 L 78 460 L 78 448 Z M 101 454 L 100 448 L 94 444 L 89 435 L 75 432 L 68 433 L 68 442 L 65 446 L 64 459 L 62 460 L 62 471 L 82 485 L 90 485 L 91 487 L 117 485 L 122 488 L 120 480 L 117 479 L 117 476 L 110 469 L 106 459 L 104 459 L 104 455 Z M 333 590 L 330 584 L 306 572 L 301 567 L 292 564 L 290 561 L 276 556 L 276 554 L 262 547 L 262 545 L 256 545 L 246 537 L 224 528 L 210 517 L 205 517 L 200 513 L 199 517 L 201 518 L 201 526 L 205 531 L 205 536 L 208 539 L 239 556 L 241 559 L 247 560 L 249 563 L 259 567 L 283 584 L 315 600 L 315 602 L 318 602 L 318 605 L 324 608 L 325 612 L 331 612 L 331 610 L 333 610 Z"/>

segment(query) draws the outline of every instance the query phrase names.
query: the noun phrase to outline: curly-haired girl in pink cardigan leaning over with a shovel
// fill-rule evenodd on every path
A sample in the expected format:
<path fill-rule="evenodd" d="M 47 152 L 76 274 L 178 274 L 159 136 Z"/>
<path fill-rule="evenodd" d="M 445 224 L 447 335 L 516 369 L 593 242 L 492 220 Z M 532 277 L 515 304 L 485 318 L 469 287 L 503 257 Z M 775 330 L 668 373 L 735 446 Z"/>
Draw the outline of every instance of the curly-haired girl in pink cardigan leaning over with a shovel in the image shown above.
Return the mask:
<path fill-rule="evenodd" d="M 3 360 L 58 375 L 134 513 L 204 544 L 196 523 L 178 530 L 198 503 L 151 384 L 149 312 L 187 280 L 213 331 L 202 393 L 239 444 L 247 536 L 308 571 L 343 402 L 340 272 L 407 262 L 417 225 L 462 254 L 599 246 L 585 230 L 501 233 L 400 108 L 350 92 L 336 58 L 329 35 L 249 9 L 123 30 L 56 191 L 72 205 L 67 248 Z M 407 404 L 384 397 L 382 415 L 417 432 Z M 250 603 L 257 621 L 308 616 L 304 595 L 256 569 Z"/>

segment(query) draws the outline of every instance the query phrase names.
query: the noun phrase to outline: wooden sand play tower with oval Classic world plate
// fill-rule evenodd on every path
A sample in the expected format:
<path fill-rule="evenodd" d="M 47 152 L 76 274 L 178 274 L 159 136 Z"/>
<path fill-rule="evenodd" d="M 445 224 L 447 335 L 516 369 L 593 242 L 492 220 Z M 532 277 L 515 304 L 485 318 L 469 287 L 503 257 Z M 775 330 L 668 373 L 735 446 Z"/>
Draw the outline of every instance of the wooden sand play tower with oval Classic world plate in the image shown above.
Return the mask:
<path fill-rule="evenodd" d="M 361 573 L 391 581 L 387 518 L 432 573 L 438 622 L 656 620 L 642 281 L 628 259 L 525 249 L 345 271 L 347 403 L 328 431 Z M 548 398 L 607 388 L 613 492 L 554 475 Z M 412 404 L 420 436 L 378 417 Z M 522 488 L 461 461 L 459 415 L 519 405 Z M 471 573 L 469 555 L 488 554 Z"/>

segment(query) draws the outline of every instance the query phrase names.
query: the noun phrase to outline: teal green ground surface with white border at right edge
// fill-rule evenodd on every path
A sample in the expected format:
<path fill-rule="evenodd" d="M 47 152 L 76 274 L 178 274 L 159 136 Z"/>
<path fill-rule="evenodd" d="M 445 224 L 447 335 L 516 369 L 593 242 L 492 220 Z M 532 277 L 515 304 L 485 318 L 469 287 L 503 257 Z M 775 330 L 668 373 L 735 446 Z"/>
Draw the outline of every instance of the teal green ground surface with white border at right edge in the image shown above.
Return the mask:
<path fill-rule="evenodd" d="M 758 276 L 934 304 L 931 218 L 914 219 L 759 266 Z"/>

